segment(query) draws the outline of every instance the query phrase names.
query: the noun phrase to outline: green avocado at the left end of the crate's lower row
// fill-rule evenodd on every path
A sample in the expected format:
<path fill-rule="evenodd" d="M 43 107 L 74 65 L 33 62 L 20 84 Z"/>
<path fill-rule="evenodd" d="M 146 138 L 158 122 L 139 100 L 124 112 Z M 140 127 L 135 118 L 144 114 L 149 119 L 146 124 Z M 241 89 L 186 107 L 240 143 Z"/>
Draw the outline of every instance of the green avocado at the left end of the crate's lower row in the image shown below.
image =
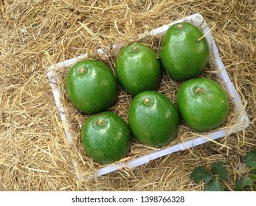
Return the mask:
<path fill-rule="evenodd" d="M 98 124 L 100 119 L 103 124 Z M 131 132 L 120 116 L 107 111 L 86 120 L 81 131 L 81 141 L 86 154 L 95 162 L 114 163 L 128 154 Z"/>

